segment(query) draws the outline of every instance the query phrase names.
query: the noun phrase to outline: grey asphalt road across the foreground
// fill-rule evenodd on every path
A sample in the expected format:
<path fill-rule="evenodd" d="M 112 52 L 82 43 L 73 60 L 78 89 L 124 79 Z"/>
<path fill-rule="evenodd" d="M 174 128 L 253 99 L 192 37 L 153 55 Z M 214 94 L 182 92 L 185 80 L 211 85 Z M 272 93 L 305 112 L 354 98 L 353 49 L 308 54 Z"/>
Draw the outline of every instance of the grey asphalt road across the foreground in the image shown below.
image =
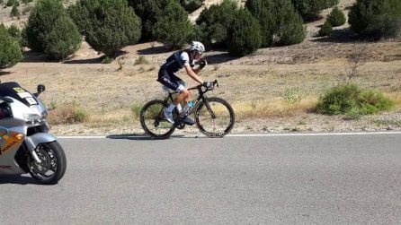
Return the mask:
<path fill-rule="evenodd" d="M 0 224 L 401 223 L 401 134 L 59 142 L 58 185 L 0 177 Z"/>

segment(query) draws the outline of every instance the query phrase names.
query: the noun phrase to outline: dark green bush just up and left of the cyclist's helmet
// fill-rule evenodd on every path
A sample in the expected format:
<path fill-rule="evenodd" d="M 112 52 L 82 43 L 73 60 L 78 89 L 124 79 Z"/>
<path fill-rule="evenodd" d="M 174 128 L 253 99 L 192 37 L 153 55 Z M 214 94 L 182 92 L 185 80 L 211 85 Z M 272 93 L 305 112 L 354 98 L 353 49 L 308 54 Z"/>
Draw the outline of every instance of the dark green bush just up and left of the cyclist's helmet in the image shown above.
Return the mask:
<path fill-rule="evenodd" d="M 176 0 L 170 0 L 162 15 L 157 17 L 154 35 L 169 48 L 182 48 L 194 37 L 195 30 L 188 20 L 188 13 Z"/>

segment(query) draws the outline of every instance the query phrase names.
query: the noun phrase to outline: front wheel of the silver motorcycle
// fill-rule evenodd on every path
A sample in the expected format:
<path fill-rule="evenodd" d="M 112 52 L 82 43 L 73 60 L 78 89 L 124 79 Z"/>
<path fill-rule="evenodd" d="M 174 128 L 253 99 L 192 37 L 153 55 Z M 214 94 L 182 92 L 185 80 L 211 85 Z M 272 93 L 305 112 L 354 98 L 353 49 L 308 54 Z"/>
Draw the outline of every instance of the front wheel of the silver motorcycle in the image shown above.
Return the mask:
<path fill-rule="evenodd" d="M 57 184 L 67 169 L 66 154 L 61 145 L 58 142 L 40 143 L 35 152 L 41 162 L 36 162 L 29 154 L 27 165 L 31 177 L 42 184 Z"/>

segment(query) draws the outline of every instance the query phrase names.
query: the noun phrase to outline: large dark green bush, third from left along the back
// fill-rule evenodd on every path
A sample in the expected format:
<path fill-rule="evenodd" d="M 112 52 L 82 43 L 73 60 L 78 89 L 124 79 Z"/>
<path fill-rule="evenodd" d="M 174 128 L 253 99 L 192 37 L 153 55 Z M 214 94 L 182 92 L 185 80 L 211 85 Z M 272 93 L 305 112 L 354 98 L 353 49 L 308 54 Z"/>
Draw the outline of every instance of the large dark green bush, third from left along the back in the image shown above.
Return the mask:
<path fill-rule="evenodd" d="M 85 0 L 68 9 L 74 22 L 96 51 L 115 57 L 140 38 L 140 19 L 126 0 Z"/>

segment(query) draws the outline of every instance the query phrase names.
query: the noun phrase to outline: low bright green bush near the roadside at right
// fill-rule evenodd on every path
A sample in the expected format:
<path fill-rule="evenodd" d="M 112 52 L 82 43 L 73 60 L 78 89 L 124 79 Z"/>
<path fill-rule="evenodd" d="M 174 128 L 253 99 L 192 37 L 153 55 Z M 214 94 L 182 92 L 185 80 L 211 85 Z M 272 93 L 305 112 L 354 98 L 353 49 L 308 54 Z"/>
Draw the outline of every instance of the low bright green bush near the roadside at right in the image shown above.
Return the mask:
<path fill-rule="evenodd" d="M 336 86 L 327 91 L 317 102 L 317 112 L 326 115 L 376 114 L 388 110 L 394 102 L 384 97 L 379 91 L 363 91 L 355 84 Z"/>

